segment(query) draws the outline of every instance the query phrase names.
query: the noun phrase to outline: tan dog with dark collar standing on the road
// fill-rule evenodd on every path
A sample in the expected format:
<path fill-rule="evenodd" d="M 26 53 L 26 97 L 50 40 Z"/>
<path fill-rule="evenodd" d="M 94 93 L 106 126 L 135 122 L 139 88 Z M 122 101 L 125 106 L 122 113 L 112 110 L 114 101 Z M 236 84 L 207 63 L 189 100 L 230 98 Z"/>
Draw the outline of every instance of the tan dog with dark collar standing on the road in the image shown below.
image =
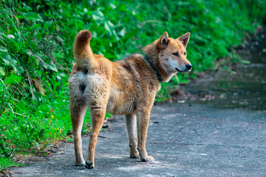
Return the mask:
<path fill-rule="evenodd" d="M 74 41 L 76 63 L 69 76 L 70 116 L 74 132 L 77 166 L 94 168 L 94 152 L 105 112 L 126 115 L 130 157 L 142 162 L 154 160 L 147 154 L 145 142 L 150 112 L 160 82 L 168 82 L 177 72 L 190 71 L 186 46 L 190 33 L 177 39 L 167 32 L 142 50 L 146 55 L 134 54 L 112 62 L 93 54 L 92 34 L 80 31 Z M 86 162 L 81 148 L 81 129 L 87 107 L 92 120 L 92 133 Z"/>

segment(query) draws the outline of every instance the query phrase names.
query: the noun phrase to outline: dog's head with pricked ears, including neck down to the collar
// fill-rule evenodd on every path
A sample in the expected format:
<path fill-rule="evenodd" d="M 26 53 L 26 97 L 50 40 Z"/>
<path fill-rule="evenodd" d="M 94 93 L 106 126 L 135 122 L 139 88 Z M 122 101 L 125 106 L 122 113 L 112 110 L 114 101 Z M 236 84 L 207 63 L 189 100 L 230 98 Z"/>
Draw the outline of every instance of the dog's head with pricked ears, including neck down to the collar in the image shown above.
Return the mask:
<path fill-rule="evenodd" d="M 168 37 L 165 32 L 159 39 L 143 49 L 151 58 L 156 58 L 166 71 L 169 79 L 177 72 L 191 71 L 192 64 L 187 58 L 187 44 L 190 33 L 185 33 L 182 36 L 173 39 Z M 157 61 L 154 61 L 157 62 Z"/>

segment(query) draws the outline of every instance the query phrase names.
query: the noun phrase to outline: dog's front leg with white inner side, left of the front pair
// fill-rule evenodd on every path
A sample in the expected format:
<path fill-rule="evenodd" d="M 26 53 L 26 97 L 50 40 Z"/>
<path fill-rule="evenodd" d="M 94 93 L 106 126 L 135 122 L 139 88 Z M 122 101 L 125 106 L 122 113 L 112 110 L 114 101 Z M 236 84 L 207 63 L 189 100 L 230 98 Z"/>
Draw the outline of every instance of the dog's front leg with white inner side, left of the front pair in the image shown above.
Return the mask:
<path fill-rule="evenodd" d="M 130 157 L 139 158 L 137 151 L 137 124 L 135 113 L 126 115 L 126 125 L 129 135 Z"/>

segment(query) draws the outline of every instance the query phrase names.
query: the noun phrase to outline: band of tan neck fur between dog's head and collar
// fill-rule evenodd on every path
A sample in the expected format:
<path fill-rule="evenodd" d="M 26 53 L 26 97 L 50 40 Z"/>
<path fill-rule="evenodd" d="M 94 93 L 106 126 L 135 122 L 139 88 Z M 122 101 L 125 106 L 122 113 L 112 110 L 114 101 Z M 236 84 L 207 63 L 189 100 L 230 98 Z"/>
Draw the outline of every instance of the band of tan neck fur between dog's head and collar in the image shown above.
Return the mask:
<path fill-rule="evenodd" d="M 160 47 L 155 45 L 156 41 L 150 45 L 145 46 L 142 51 L 150 59 L 153 66 L 158 70 L 159 75 L 162 77 L 163 82 L 169 80 L 169 75 L 167 74 L 165 68 L 162 66 L 159 60 Z"/>

